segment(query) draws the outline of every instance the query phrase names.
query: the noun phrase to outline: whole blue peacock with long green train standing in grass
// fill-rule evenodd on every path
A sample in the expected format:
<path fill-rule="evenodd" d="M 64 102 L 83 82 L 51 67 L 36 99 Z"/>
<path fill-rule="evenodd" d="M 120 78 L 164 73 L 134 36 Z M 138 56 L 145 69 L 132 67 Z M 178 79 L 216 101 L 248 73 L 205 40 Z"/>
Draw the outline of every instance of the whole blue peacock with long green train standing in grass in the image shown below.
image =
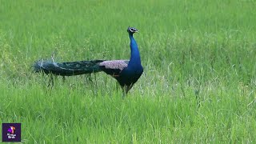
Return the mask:
<path fill-rule="evenodd" d="M 104 71 L 115 78 L 122 87 L 123 93 L 134 86 L 143 73 L 143 67 L 134 33 L 138 33 L 134 27 L 128 27 L 130 38 L 130 60 L 92 60 L 80 62 L 50 62 L 39 60 L 34 63 L 35 72 L 65 76 L 91 74 Z"/>

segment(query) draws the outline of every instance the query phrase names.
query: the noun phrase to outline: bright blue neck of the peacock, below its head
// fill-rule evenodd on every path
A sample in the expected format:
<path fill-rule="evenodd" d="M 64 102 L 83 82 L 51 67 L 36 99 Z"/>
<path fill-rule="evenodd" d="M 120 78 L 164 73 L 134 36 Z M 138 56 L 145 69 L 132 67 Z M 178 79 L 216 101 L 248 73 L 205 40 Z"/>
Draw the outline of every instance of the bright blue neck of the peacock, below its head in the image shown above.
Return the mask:
<path fill-rule="evenodd" d="M 130 62 L 128 67 L 141 66 L 141 58 L 138 51 L 137 43 L 133 37 L 133 34 L 129 34 L 130 37 Z"/>

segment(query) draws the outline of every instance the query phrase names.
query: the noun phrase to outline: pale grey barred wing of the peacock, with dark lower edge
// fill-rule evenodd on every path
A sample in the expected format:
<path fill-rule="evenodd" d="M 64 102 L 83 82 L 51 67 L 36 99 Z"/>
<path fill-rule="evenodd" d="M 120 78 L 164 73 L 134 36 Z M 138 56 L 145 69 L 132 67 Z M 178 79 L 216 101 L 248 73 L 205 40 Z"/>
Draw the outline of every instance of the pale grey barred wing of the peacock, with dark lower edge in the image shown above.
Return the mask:
<path fill-rule="evenodd" d="M 114 78 L 118 77 L 123 69 L 128 66 L 129 60 L 103 61 L 99 63 L 101 69 Z"/>

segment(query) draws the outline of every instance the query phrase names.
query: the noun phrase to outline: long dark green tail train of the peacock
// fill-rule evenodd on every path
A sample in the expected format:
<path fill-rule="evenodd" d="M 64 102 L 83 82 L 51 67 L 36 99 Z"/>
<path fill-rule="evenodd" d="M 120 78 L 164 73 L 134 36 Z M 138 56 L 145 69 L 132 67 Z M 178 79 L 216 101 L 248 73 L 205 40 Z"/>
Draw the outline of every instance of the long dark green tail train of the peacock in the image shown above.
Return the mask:
<path fill-rule="evenodd" d="M 90 74 L 102 71 L 99 63 L 104 60 L 80 61 L 80 62 L 50 62 L 39 60 L 34 63 L 35 72 L 45 74 L 55 74 L 62 76 L 72 76 L 79 74 Z"/>

